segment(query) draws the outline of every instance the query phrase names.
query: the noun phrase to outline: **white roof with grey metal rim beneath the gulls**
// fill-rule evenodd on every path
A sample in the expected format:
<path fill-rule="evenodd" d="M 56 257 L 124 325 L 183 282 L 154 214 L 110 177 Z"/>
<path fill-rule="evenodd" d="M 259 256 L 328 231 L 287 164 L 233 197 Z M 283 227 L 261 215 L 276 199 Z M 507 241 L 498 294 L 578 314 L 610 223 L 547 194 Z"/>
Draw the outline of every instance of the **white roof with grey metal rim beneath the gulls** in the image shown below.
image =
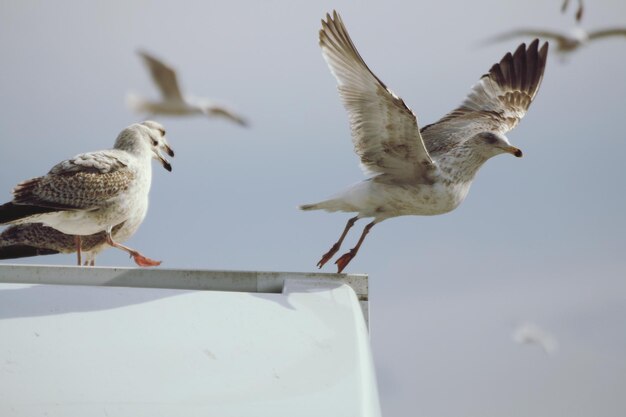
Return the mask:
<path fill-rule="evenodd" d="M 380 416 L 366 292 L 364 276 L 2 265 L 0 415 Z"/>

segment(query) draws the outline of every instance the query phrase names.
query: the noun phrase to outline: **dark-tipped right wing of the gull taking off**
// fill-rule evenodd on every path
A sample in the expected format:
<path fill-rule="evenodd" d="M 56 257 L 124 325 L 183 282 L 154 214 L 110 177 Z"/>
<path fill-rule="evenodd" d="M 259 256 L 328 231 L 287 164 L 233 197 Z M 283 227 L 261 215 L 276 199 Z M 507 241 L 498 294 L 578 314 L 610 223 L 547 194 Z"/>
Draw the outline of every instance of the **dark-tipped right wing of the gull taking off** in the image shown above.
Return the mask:
<path fill-rule="evenodd" d="M 448 151 L 480 132 L 506 133 L 524 117 L 532 103 L 546 66 L 548 43 L 539 49 L 535 39 L 507 53 L 481 77 L 469 95 L 452 112 L 422 129 L 431 154 Z"/>

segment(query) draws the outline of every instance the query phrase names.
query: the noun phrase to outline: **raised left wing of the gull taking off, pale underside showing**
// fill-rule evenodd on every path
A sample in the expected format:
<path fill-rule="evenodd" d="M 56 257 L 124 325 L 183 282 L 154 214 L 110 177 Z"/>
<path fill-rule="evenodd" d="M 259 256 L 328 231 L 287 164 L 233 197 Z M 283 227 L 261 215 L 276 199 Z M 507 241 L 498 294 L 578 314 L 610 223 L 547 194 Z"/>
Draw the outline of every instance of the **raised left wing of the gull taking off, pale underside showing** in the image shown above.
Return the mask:
<path fill-rule="evenodd" d="M 415 114 L 370 71 L 337 12 L 322 20 L 319 43 L 339 84 L 364 170 L 397 179 L 413 179 L 427 171 L 432 159 Z"/>

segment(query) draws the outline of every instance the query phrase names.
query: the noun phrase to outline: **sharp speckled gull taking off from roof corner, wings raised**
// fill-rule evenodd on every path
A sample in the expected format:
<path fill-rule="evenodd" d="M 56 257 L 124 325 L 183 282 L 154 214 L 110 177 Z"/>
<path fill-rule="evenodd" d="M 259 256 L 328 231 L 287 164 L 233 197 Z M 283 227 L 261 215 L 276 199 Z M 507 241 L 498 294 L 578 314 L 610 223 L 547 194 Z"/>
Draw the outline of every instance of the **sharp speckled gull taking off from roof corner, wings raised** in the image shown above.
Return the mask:
<path fill-rule="evenodd" d="M 337 259 L 338 272 L 355 257 L 375 224 L 396 216 L 454 210 L 485 161 L 501 153 L 522 156 L 504 134 L 526 114 L 537 93 L 547 43 L 539 49 L 535 40 L 528 48 L 521 44 L 513 55 L 506 54 L 460 107 L 420 131 L 411 109 L 367 67 L 337 12 L 322 20 L 319 42 L 349 114 L 354 149 L 371 177 L 329 200 L 300 207 L 358 213 L 318 267 L 339 250 L 357 220 L 374 218 L 356 246 Z"/>

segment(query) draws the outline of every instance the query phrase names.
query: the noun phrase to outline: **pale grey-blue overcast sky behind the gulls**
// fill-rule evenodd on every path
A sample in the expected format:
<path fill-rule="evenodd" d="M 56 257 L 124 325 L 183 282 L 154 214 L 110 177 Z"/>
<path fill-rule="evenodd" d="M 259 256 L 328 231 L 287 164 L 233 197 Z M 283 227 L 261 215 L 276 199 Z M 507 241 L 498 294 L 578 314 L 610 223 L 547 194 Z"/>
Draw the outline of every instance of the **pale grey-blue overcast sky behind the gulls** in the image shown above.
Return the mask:
<path fill-rule="evenodd" d="M 588 0 L 583 26 L 626 26 L 626 2 Z M 421 125 L 453 109 L 521 40 L 568 29 L 560 0 L 13 1 L 0 4 L 0 202 L 19 181 L 112 146 L 156 97 L 135 54 L 252 126 L 159 118 L 176 150 L 128 244 L 163 267 L 314 271 L 349 214 L 300 212 L 360 181 L 346 113 L 317 45 L 336 8 L 370 68 Z M 626 39 L 559 58 L 508 134 L 524 158 L 487 162 L 465 202 L 377 225 L 345 272 L 370 276 L 385 416 L 622 416 L 626 409 Z M 352 247 L 366 221 L 346 240 Z M 24 262 L 73 264 L 74 256 Z M 20 261 L 22 262 L 22 261 Z M 108 250 L 99 265 L 133 266 Z M 332 264 L 323 271 L 334 272 Z M 532 321 L 555 355 L 512 342 Z"/>

